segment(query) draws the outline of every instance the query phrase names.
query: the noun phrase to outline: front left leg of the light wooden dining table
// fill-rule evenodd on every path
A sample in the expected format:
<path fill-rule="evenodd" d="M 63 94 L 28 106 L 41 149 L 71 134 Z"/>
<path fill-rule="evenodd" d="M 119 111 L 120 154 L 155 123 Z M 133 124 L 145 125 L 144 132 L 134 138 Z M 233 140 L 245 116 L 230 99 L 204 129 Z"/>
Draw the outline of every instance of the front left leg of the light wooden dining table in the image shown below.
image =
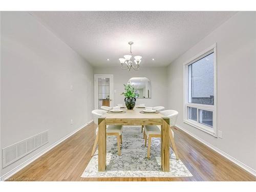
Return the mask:
<path fill-rule="evenodd" d="M 106 124 L 105 124 L 104 118 L 99 118 L 98 126 L 99 126 L 98 171 L 103 172 L 106 169 Z"/>

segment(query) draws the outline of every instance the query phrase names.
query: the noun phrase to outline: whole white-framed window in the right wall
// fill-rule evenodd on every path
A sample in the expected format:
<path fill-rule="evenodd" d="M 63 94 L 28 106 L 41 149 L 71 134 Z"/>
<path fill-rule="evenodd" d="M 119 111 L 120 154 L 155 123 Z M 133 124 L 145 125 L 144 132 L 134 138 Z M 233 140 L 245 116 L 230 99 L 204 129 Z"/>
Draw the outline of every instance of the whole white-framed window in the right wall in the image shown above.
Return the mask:
<path fill-rule="evenodd" d="M 216 45 L 184 64 L 184 122 L 216 136 Z"/>

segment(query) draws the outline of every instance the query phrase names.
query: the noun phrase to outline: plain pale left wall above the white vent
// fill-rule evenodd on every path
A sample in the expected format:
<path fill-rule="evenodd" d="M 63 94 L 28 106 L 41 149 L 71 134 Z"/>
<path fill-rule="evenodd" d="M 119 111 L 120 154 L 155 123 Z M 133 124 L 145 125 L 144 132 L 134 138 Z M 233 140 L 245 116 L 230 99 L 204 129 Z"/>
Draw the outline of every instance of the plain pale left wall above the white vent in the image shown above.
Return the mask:
<path fill-rule="evenodd" d="M 2 175 L 88 123 L 93 103 L 93 68 L 82 57 L 27 12 L 1 12 L 1 146 L 49 129 L 48 144 Z"/>

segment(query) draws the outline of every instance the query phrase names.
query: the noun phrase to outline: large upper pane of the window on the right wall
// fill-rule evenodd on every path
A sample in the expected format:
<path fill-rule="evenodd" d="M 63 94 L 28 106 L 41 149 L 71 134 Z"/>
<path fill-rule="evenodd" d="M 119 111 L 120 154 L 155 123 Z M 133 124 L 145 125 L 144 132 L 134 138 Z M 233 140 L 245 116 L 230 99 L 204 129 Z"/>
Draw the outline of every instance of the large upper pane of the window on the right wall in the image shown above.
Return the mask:
<path fill-rule="evenodd" d="M 188 66 L 188 102 L 214 105 L 214 53 Z"/>

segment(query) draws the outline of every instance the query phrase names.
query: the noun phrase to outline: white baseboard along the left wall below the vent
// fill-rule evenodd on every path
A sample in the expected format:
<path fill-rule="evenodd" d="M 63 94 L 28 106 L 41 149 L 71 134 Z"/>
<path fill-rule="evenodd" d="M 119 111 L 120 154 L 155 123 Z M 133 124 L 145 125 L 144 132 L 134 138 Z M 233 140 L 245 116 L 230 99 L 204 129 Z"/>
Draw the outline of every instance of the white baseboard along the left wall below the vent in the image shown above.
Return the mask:
<path fill-rule="evenodd" d="M 80 131 L 83 127 L 87 126 L 88 124 L 90 124 L 91 122 L 93 122 L 93 120 L 89 121 L 86 124 L 83 124 L 81 127 L 79 127 L 77 130 L 71 132 L 70 134 L 66 135 L 65 137 L 62 137 L 61 139 L 59 139 L 58 141 L 56 141 L 55 143 L 51 144 L 50 146 L 48 146 L 47 148 L 45 148 L 44 150 L 42 150 L 41 152 L 39 152 L 38 154 L 34 155 L 33 157 L 29 158 L 27 161 L 23 162 L 22 164 L 16 166 L 15 168 L 13 168 L 12 170 L 10 170 L 10 172 L 6 173 L 5 175 L 3 175 L 2 177 L 0 177 L 0 181 L 3 180 L 7 180 L 9 177 L 13 176 L 14 174 L 16 174 L 17 172 L 19 172 L 19 170 L 23 169 L 24 167 L 28 166 L 30 163 L 32 163 L 33 161 L 35 161 L 36 159 L 38 159 L 39 157 L 41 157 L 42 155 L 44 155 L 45 153 L 49 152 L 53 147 L 57 146 L 59 143 L 61 143 L 62 141 L 65 141 L 66 139 L 68 139 L 69 137 L 71 137 L 72 135 L 74 135 L 76 132 Z"/>

